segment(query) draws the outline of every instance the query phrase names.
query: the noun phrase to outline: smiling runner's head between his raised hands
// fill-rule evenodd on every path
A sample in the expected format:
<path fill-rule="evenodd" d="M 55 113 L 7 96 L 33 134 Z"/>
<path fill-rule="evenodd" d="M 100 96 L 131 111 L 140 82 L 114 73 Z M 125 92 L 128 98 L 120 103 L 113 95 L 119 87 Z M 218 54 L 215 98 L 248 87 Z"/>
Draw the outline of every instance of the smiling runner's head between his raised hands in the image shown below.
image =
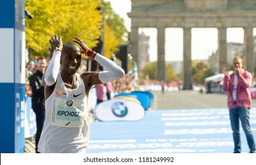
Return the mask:
<path fill-rule="evenodd" d="M 76 44 L 72 42 L 64 44 L 60 60 L 61 72 L 65 72 L 69 75 L 75 74 L 80 67 L 81 59 L 81 51 Z"/>

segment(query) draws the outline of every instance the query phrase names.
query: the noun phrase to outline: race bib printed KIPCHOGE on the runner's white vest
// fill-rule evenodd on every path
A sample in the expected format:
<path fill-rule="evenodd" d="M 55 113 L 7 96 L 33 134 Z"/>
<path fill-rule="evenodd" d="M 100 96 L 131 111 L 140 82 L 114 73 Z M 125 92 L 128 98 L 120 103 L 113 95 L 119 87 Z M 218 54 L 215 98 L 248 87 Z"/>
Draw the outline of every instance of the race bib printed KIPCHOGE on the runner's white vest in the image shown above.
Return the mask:
<path fill-rule="evenodd" d="M 59 127 L 83 127 L 85 120 L 83 100 L 54 98 L 51 125 Z"/>

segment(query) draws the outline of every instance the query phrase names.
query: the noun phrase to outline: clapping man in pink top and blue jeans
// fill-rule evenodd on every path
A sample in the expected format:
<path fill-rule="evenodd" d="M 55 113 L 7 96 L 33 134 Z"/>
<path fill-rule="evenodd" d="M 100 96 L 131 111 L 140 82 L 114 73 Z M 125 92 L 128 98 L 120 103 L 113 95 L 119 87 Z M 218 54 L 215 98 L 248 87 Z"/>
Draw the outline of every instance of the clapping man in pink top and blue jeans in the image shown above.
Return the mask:
<path fill-rule="evenodd" d="M 251 93 L 249 88 L 252 83 L 252 75 L 242 67 L 244 62 L 241 57 L 233 59 L 234 72 L 229 75 L 226 68 L 222 69 L 225 74 L 223 91 L 228 92 L 228 108 L 235 149 L 234 153 L 241 153 L 241 138 L 239 131 L 239 119 L 245 132 L 249 153 L 255 153 L 255 142 L 249 124 L 249 109 L 251 108 Z"/>

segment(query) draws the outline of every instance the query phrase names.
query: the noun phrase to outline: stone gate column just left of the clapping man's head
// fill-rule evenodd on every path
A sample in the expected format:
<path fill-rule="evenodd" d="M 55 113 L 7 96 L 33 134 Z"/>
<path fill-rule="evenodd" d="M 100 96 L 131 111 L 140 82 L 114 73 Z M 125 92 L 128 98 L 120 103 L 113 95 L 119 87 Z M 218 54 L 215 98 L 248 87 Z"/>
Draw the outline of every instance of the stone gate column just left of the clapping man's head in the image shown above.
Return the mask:
<path fill-rule="evenodd" d="M 226 28 L 218 28 L 218 63 L 219 72 L 223 67 L 227 67 L 227 47 L 226 47 Z"/>

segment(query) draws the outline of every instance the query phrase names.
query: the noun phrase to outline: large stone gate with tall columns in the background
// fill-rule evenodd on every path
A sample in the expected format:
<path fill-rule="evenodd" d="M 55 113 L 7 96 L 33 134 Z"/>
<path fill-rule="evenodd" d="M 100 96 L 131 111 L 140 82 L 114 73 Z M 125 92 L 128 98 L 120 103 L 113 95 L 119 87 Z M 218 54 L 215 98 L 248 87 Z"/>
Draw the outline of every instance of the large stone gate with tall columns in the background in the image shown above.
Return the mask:
<path fill-rule="evenodd" d="M 183 28 L 183 89 L 192 82 L 191 30 L 218 29 L 219 72 L 227 65 L 227 28 L 244 29 L 244 68 L 254 70 L 255 0 L 131 0 L 131 55 L 138 63 L 138 28 L 157 28 L 157 79 L 165 80 L 165 29 Z M 231 61 L 229 61 L 231 62 Z"/>

